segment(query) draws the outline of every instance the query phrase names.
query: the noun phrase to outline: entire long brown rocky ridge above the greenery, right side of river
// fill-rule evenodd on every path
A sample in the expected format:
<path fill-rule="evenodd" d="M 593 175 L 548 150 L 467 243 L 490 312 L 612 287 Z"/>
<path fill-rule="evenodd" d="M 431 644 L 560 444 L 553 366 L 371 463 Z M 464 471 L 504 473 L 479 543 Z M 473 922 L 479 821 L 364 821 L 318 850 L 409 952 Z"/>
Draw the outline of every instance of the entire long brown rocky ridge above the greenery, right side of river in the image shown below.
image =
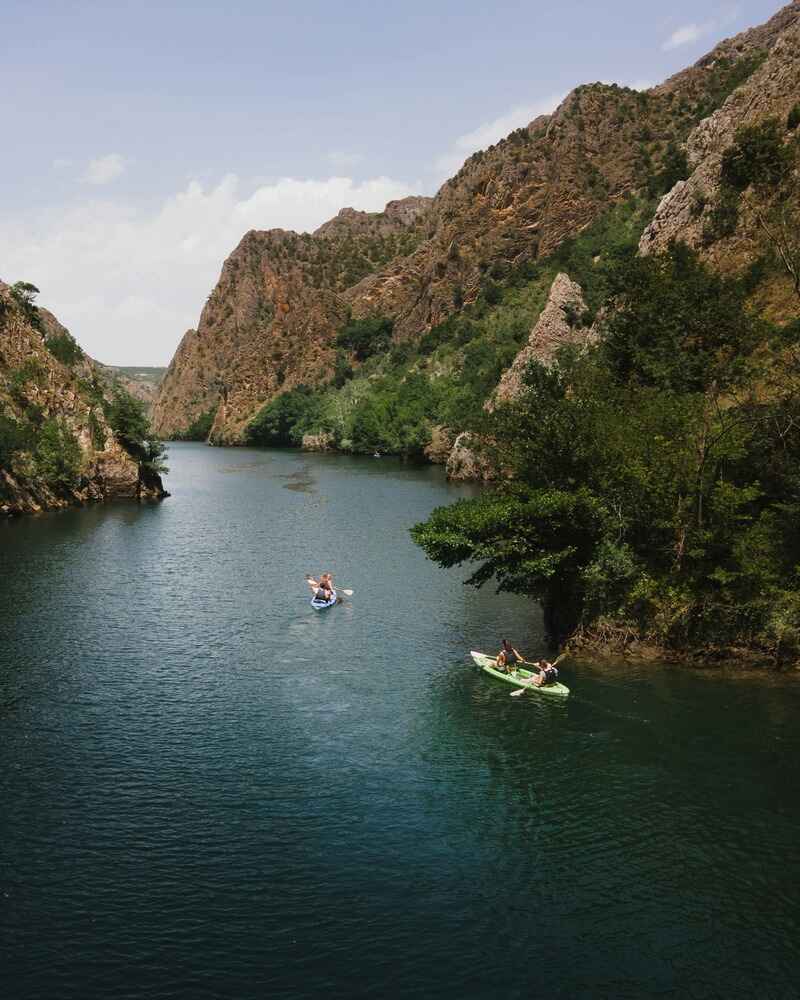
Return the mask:
<path fill-rule="evenodd" d="M 713 246 L 703 237 L 719 158 L 743 123 L 785 117 L 793 88 L 796 100 L 798 24 L 800 4 L 789 4 L 647 92 L 580 86 L 552 115 L 471 156 L 432 200 L 345 209 L 311 235 L 248 233 L 170 365 L 156 429 L 169 436 L 208 414 L 212 439 L 240 441 L 265 403 L 331 379 L 336 334 L 351 317 L 390 320 L 394 344 L 413 350 L 634 195 L 670 192 L 645 250 L 678 237 L 705 240 L 715 263 L 731 259 L 757 223 L 748 228 L 743 209 L 741 229 Z"/>

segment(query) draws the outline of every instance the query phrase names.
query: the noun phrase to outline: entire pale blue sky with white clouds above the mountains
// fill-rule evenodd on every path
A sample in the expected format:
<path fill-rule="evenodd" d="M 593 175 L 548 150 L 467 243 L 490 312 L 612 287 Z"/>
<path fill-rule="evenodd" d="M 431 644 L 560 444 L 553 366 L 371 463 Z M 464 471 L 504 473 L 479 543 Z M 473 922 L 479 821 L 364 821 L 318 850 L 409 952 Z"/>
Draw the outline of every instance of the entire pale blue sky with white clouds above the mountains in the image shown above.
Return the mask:
<path fill-rule="evenodd" d="M 779 6 L 0 0 L 0 278 L 166 363 L 248 228 L 433 194 L 578 83 L 659 82 Z"/>

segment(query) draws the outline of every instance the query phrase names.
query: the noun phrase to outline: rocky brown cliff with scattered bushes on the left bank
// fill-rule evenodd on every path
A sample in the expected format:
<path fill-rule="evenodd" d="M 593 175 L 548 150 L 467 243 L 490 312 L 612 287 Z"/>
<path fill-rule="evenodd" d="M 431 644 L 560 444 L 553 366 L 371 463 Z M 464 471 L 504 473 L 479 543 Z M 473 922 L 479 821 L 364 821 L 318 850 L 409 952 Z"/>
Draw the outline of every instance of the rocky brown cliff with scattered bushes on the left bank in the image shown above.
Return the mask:
<path fill-rule="evenodd" d="M 100 366 L 34 292 L 0 283 L 0 514 L 165 496 L 120 443 Z"/>

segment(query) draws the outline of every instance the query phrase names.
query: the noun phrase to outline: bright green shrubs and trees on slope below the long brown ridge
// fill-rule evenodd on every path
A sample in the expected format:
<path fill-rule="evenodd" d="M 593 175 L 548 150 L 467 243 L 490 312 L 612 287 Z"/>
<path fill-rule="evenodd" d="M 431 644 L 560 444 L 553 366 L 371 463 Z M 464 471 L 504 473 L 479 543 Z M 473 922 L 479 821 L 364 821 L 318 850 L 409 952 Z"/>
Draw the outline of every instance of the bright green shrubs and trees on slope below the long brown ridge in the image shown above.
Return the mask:
<path fill-rule="evenodd" d="M 470 429 L 530 333 L 553 278 L 567 271 L 585 291 L 590 323 L 607 295 L 600 261 L 631 253 L 653 201 L 630 199 L 541 262 L 495 265 L 480 294 L 419 341 L 391 344 L 392 324 L 351 320 L 337 337 L 338 360 L 324 386 L 277 396 L 251 422 L 254 444 L 299 446 L 306 434 L 355 453 L 418 458 L 437 426 Z"/>

